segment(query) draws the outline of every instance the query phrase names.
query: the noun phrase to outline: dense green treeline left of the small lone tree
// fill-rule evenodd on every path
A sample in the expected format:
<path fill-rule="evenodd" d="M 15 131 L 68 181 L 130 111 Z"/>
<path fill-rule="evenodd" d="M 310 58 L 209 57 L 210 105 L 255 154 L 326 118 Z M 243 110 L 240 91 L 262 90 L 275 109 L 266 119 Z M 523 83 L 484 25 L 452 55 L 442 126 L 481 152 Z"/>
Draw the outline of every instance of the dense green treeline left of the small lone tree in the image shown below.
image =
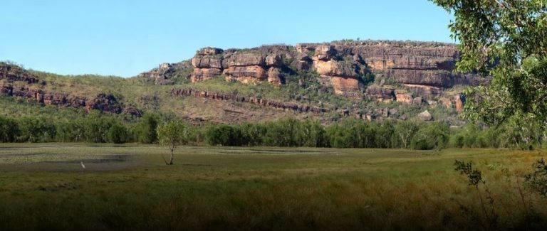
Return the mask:
<path fill-rule="evenodd" d="M 140 121 L 122 120 L 91 112 L 76 119 L 49 117 L 9 118 L 0 116 L 1 142 L 93 142 L 115 143 L 157 141 L 156 127 L 160 117 L 146 114 Z"/>

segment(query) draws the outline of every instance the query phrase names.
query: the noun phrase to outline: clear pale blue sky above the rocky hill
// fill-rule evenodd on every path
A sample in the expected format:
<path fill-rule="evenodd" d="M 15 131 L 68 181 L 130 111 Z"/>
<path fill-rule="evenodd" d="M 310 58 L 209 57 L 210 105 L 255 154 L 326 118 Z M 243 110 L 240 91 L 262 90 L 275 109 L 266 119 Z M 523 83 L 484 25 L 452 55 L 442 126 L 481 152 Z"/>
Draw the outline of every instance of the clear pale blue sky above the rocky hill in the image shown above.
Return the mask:
<path fill-rule="evenodd" d="M 427 0 L 6 0 L 0 60 L 63 75 L 132 77 L 206 46 L 386 39 L 454 42 Z"/>

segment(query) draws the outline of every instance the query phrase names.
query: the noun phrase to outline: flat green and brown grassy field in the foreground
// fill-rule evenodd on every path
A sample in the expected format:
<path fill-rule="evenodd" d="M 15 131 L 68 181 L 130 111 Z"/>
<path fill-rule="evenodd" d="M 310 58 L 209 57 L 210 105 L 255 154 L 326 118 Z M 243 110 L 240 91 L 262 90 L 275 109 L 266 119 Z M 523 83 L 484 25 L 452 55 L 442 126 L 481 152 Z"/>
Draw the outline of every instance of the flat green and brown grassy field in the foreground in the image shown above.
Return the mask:
<path fill-rule="evenodd" d="M 506 230 L 547 215 L 516 187 L 542 151 L 188 146 L 166 166 L 167 153 L 2 144 L 0 230 Z M 494 224 L 455 159 L 483 171 Z"/>

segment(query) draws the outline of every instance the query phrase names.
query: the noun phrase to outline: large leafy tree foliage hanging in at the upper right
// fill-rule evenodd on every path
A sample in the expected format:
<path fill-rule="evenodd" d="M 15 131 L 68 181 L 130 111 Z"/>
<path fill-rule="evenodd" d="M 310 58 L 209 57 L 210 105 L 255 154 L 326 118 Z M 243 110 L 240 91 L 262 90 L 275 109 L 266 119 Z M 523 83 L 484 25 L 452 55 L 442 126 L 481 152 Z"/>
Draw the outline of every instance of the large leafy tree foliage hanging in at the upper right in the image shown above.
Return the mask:
<path fill-rule="evenodd" d="M 431 0 L 454 14 L 457 69 L 492 77 L 467 92 L 469 119 L 547 118 L 547 0 Z"/>

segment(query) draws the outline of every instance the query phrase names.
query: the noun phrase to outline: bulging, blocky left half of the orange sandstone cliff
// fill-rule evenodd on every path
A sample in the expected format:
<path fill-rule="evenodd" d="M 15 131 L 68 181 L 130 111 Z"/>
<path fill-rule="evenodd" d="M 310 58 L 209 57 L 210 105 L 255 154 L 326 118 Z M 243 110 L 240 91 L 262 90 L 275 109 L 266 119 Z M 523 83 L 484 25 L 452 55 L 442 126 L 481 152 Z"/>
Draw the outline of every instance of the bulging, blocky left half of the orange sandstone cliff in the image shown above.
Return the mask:
<path fill-rule="evenodd" d="M 224 75 L 226 81 L 273 85 L 286 82 L 286 75 L 298 71 L 316 71 L 323 85 L 335 94 L 359 98 L 366 70 L 359 55 L 338 54 L 332 45 L 318 45 L 314 53 L 299 52 L 288 45 L 265 45 L 249 50 L 202 48 L 192 58 L 192 82 Z"/>

